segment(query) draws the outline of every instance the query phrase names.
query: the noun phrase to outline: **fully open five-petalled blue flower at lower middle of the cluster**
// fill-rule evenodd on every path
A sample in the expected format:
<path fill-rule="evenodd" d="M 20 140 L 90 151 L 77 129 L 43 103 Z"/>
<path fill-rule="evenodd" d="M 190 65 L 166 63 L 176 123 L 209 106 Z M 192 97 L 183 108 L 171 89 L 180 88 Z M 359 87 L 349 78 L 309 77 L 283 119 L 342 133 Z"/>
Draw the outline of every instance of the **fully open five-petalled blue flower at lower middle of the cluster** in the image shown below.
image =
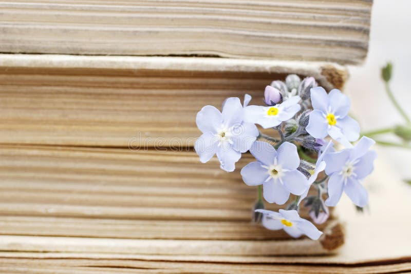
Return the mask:
<path fill-rule="evenodd" d="M 249 186 L 263 185 L 264 199 L 279 205 L 287 202 L 290 192 L 301 195 L 308 187 L 307 178 L 297 170 L 297 148 L 285 142 L 276 151 L 266 142 L 256 141 L 250 148 L 258 162 L 241 169 L 242 180 Z"/>

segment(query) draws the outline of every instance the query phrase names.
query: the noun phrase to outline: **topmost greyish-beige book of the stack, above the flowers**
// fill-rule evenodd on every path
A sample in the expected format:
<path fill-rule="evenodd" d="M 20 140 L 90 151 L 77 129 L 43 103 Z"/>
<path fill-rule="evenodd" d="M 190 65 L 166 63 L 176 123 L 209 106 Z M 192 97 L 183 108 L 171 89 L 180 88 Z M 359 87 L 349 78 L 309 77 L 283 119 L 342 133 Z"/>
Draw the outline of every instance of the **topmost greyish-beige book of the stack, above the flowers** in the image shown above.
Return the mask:
<path fill-rule="evenodd" d="M 0 2 L 0 52 L 361 63 L 372 1 Z"/>

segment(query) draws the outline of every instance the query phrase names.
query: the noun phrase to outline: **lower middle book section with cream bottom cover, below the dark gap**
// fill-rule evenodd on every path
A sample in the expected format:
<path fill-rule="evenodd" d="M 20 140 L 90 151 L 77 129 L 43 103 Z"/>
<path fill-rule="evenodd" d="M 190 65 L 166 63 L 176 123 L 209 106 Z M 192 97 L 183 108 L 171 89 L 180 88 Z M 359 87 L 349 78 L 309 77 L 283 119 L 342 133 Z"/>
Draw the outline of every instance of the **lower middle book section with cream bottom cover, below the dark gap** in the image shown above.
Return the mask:
<path fill-rule="evenodd" d="M 256 188 L 218 166 L 194 151 L 2 145 L 0 250 L 268 256 L 343 244 L 332 214 L 319 241 L 252 224 Z"/>

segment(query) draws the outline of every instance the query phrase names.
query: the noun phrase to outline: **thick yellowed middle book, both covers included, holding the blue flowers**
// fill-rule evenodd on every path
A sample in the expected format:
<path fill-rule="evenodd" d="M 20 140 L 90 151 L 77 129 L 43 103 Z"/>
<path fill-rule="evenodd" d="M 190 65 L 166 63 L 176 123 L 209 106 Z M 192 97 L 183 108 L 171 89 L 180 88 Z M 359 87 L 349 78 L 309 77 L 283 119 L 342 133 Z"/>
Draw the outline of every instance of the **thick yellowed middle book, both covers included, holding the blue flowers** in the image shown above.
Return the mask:
<path fill-rule="evenodd" d="M 333 218 L 320 226 L 321 241 L 253 225 L 256 188 L 216 159 L 201 164 L 192 148 L 202 106 L 246 92 L 259 104 L 264 87 L 291 72 L 341 86 L 343 67 L 61 55 L 0 62 L 0 233 L 24 236 L 21 251 L 48 248 L 47 240 L 32 247 L 27 236 L 94 239 L 59 238 L 54 251 L 102 244 L 101 251 L 157 255 L 324 254 L 343 243 Z M 237 168 L 251 161 L 246 154 Z M 114 239 L 130 239 L 130 247 L 116 249 Z"/>

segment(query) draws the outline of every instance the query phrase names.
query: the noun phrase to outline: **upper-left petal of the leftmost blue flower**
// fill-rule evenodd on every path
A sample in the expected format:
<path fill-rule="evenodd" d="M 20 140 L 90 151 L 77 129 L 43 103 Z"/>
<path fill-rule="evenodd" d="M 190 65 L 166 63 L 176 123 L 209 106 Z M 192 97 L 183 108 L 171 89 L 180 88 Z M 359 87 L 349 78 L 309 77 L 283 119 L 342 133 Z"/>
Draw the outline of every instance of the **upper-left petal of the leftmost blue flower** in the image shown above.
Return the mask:
<path fill-rule="evenodd" d="M 221 113 L 213 106 L 205 106 L 197 113 L 196 124 L 202 133 L 217 133 L 222 124 Z"/>

